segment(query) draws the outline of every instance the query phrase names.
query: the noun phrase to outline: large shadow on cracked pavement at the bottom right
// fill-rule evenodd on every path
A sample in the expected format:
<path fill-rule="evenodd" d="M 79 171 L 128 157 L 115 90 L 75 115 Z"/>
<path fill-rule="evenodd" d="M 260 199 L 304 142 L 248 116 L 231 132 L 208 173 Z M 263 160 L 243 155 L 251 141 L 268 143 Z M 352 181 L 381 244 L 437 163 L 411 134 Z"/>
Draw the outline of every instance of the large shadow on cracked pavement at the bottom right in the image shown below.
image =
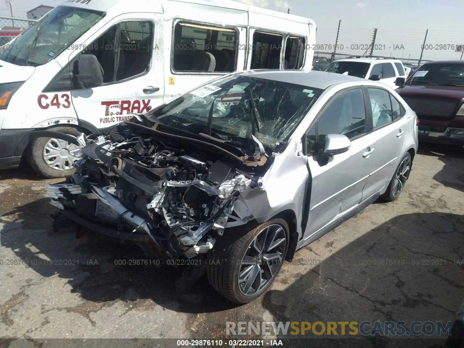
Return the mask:
<path fill-rule="evenodd" d="M 464 215 L 400 215 L 322 261 L 314 251 L 300 252 L 303 256 L 297 251 L 293 262 L 284 266 L 273 287 L 277 290 L 266 292 L 262 300 L 277 322 L 404 321 L 409 329 L 416 320 L 453 321 L 462 301 Z M 299 269 L 290 271 L 293 267 Z M 304 337 L 290 336 L 290 331 L 282 337 Z M 337 332 L 338 338 L 349 338 L 340 336 L 340 326 Z M 311 331 L 306 336 L 317 337 Z M 414 343 L 378 335 L 370 339 L 376 342 L 372 347 Z M 433 344 L 425 336 L 420 340 L 415 343 L 444 346 L 443 339 Z"/>

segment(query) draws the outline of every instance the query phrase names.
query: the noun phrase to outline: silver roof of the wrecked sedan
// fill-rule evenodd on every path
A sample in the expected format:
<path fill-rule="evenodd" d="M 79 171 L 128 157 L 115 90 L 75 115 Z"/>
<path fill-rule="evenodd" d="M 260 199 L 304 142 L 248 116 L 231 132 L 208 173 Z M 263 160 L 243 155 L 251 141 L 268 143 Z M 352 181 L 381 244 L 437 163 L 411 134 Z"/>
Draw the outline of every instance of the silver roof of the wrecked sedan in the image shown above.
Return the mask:
<path fill-rule="evenodd" d="M 337 74 L 326 71 L 298 71 L 298 70 L 276 70 L 259 69 L 239 72 L 237 75 L 264 78 L 267 80 L 285 82 L 289 84 L 299 84 L 313 88 L 325 90 L 332 84 L 341 82 L 360 82 L 366 83 L 366 79 L 349 75 Z"/>

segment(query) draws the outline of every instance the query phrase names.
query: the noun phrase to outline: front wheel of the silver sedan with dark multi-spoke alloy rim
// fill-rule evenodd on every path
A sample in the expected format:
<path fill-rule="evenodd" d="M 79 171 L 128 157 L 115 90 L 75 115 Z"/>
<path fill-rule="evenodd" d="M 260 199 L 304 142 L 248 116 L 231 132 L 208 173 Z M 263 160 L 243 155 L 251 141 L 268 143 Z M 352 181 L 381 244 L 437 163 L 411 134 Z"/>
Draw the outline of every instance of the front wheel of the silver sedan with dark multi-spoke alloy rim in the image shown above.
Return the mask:
<path fill-rule="evenodd" d="M 242 232 L 238 239 L 227 238 L 227 232 L 236 235 L 234 230 L 225 231 L 209 256 L 206 274 L 219 294 L 235 303 L 248 303 L 277 277 L 288 251 L 289 226 L 284 219 L 271 219 L 245 235 Z"/>

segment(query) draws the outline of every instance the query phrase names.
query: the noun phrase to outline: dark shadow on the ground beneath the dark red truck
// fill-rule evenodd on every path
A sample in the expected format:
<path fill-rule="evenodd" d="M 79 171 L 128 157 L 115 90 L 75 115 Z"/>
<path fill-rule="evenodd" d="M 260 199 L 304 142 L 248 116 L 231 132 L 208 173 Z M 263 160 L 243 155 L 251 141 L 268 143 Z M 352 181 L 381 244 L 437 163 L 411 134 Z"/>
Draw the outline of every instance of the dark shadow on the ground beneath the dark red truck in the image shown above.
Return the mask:
<path fill-rule="evenodd" d="M 464 148 L 425 142 L 420 143 L 418 154 L 435 156 L 442 161 L 444 167 L 433 179 L 446 187 L 464 192 Z M 461 161 L 456 161 L 456 158 Z"/>

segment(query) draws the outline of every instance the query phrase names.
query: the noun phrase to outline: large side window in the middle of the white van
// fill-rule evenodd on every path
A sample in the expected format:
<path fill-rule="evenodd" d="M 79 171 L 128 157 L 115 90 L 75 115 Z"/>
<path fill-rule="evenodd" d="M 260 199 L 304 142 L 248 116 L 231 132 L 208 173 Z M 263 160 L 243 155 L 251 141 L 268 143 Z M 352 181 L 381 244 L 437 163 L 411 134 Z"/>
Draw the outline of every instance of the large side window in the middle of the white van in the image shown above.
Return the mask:
<path fill-rule="evenodd" d="M 235 28 L 179 22 L 174 26 L 173 70 L 232 72 L 237 66 Z"/>

